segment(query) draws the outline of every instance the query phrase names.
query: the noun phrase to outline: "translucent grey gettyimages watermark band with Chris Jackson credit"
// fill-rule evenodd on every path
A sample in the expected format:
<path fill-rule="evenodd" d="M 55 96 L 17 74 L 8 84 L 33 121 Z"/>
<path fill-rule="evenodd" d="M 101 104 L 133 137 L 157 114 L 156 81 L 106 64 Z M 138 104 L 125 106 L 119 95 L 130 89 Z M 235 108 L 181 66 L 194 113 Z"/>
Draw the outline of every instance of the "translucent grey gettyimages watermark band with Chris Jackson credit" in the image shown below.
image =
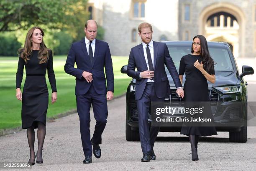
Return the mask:
<path fill-rule="evenodd" d="M 256 126 L 256 102 L 151 102 L 151 126 Z"/>

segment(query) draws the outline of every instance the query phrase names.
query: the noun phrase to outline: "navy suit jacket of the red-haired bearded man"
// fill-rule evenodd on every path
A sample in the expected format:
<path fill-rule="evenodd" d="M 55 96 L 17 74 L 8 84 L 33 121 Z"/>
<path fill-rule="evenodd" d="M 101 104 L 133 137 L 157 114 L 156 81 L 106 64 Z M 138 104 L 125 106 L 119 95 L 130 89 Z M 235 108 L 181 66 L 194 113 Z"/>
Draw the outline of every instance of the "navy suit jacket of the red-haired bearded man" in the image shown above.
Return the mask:
<path fill-rule="evenodd" d="M 176 87 L 182 87 L 179 74 L 175 68 L 172 57 L 170 57 L 169 50 L 165 43 L 153 41 L 154 46 L 154 86 L 156 96 L 158 98 L 168 97 L 171 93 L 170 84 L 165 72 L 164 64 L 169 70 Z M 135 67 L 137 71 L 135 71 Z M 144 57 L 142 43 L 133 47 L 130 52 L 127 74 L 136 79 L 135 99 L 141 99 L 144 89 L 146 87 L 147 79 L 140 78 L 140 73 L 148 70 L 146 60 Z"/>

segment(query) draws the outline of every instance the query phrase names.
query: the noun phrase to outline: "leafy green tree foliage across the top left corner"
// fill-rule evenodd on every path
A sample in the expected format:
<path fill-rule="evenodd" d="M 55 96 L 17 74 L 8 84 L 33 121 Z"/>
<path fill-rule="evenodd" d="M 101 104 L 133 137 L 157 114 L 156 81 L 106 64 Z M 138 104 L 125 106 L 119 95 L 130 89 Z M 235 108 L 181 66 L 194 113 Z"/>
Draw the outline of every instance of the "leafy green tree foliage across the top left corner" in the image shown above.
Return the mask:
<path fill-rule="evenodd" d="M 87 0 L 1 0 L 0 32 L 47 25 L 74 33 L 74 27 L 79 27 L 89 16 L 86 4 Z"/>

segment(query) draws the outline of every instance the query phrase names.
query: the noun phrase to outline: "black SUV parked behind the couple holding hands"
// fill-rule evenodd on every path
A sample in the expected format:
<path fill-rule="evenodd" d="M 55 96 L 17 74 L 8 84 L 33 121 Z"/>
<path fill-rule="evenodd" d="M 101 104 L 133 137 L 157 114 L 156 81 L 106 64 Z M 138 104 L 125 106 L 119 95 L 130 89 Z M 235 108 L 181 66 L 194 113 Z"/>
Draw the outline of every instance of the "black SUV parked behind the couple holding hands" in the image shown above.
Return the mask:
<path fill-rule="evenodd" d="M 179 62 L 182 56 L 191 53 L 192 41 L 166 41 L 170 56 L 179 71 Z M 247 82 L 243 76 L 253 74 L 252 67 L 243 66 L 242 73 L 239 74 L 236 60 L 233 57 L 230 47 L 225 42 L 208 42 L 210 55 L 217 63 L 215 65 L 216 82 L 208 82 L 209 97 L 212 106 L 212 115 L 215 121 L 217 131 L 229 131 L 229 140 L 231 142 L 247 141 Z M 121 68 L 121 72 L 126 74 L 127 65 Z M 166 68 L 167 77 L 172 94 L 165 101 L 182 101 L 182 98 L 176 96 L 176 88 L 172 77 Z M 132 79 L 126 92 L 126 122 L 125 136 L 127 141 L 139 141 L 138 133 L 138 112 L 135 100 L 135 82 Z M 183 77 L 183 85 L 185 77 Z M 222 102 L 222 106 L 218 103 Z M 229 102 L 241 102 L 243 107 L 229 105 Z M 149 116 L 150 118 L 150 116 Z M 236 121 L 236 125 L 232 125 Z M 231 126 L 227 124 L 231 123 Z M 237 124 L 238 123 L 238 124 Z M 148 119 L 148 124 L 151 120 Z M 221 126 L 223 124 L 223 126 Z M 224 126 L 225 124 L 225 126 Z M 180 126 L 161 127 L 162 132 L 178 132 Z"/>

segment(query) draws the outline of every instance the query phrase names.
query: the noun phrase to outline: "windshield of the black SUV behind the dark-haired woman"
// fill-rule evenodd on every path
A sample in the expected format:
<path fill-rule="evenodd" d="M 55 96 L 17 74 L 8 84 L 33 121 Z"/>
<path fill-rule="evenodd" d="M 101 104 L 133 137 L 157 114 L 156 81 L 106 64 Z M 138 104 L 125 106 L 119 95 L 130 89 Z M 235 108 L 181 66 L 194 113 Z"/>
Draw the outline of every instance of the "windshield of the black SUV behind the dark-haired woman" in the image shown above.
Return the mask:
<path fill-rule="evenodd" d="M 177 71 L 179 72 L 179 62 L 180 59 L 187 54 L 191 54 L 191 46 L 168 46 L 170 56 L 175 64 Z M 214 60 L 215 71 L 233 71 L 233 66 L 228 54 L 228 50 L 220 47 L 209 47 L 210 55 Z"/>

